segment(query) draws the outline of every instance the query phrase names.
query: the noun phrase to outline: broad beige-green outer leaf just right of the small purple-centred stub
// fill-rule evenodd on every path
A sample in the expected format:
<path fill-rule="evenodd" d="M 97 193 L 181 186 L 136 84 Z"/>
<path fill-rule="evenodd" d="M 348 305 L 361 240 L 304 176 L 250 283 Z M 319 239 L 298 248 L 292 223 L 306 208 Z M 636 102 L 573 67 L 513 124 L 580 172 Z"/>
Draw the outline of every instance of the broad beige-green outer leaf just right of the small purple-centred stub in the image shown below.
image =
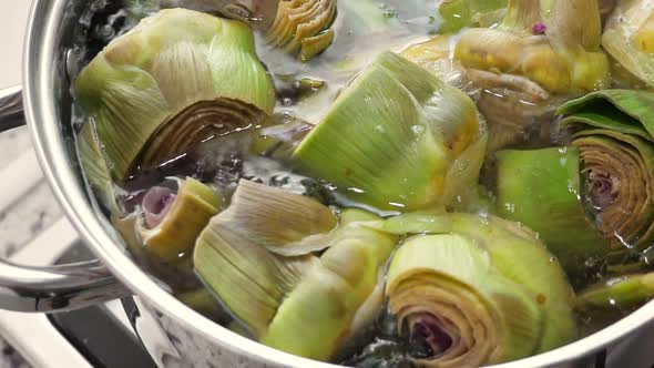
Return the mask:
<path fill-rule="evenodd" d="M 272 254 L 216 218 L 197 238 L 193 255 L 201 279 L 256 337 L 265 336 L 287 293 L 316 262 Z"/>

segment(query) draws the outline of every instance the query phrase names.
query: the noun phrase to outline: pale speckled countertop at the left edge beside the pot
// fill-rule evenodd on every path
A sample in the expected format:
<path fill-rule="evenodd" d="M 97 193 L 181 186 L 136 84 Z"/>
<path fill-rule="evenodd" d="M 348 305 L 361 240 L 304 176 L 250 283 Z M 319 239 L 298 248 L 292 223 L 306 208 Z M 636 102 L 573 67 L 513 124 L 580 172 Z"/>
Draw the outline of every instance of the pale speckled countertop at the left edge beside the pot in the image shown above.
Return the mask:
<path fill-rule="evenodd" d="M 2 58 L 0 58 L 0 89 L 21 83 L 22 39 L 31 1 L 0 1 L 0 34 L 2 34 Z M 20 160 L 33 161 L 27 129 L 19 127 L 0 134 L 0 172 L 8 170 Z M 10 175 L 17 176 L 17 175 Z M 20 176 L 20 175 L 18 175 Z M 37 176 L 38 178 L 39 176 Z M 3 177 L 4 182 L 21 181 L 21 177 Z M 6 206 L 0 208 L 0 256 L 8 257 L 62 217 L 62 211 L 45 181 L 40 177 L 23 188 L 23 195 L 13 200 L 11 193 L 2 193 Z M 2 335 L 0 330 L 0 335 Z M 20 354 L 10 345 L 0 341 L 0 368 L 29 367 Z"/>

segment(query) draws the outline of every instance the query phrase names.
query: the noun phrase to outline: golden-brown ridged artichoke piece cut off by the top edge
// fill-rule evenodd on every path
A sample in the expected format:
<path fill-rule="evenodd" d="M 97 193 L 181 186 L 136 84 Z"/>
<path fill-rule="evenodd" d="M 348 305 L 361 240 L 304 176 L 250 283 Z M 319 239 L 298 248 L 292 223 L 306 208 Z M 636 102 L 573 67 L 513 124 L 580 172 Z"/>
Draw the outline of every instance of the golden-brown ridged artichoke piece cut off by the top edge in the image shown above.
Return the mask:
<path fill-rule="evenodd" d="M 279 1 L 267 41 L 290 54 L 309 61 L 334 41 L 330 29 L 336 18 L 336 0 Z"/>

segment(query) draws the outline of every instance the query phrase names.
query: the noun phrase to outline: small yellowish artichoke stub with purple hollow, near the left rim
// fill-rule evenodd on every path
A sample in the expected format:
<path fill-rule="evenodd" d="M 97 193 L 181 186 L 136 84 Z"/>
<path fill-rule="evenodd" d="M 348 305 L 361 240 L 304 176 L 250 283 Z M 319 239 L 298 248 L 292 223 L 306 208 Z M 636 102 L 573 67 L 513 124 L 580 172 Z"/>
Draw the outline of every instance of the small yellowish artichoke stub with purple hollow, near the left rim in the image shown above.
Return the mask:
<path fill-rule="evenodd" d="M 177 265 L 193 251 L 195 241 L 221 208 L 221 197 L 208 186 L 187 177 L 145 192 L 131 215 L 113 223 L 132 249 Z M 136 253 L 140 253 L 136 251 Z"/>

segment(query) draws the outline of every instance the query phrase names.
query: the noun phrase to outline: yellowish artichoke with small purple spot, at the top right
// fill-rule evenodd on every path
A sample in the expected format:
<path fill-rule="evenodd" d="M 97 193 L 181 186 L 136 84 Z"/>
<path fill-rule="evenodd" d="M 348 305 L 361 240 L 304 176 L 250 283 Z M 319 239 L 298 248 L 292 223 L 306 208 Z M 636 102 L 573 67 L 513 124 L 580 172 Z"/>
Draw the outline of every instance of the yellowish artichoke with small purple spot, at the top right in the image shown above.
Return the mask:
<path fill-rule="evenodd" d="M 596 0 L 509 1 L 498 28 L 463 31 L 454 60 L 482 89 L 489 151 L 535 132 L 549 137 L 555 105 L 568 95 L 606 88 Z"/>

